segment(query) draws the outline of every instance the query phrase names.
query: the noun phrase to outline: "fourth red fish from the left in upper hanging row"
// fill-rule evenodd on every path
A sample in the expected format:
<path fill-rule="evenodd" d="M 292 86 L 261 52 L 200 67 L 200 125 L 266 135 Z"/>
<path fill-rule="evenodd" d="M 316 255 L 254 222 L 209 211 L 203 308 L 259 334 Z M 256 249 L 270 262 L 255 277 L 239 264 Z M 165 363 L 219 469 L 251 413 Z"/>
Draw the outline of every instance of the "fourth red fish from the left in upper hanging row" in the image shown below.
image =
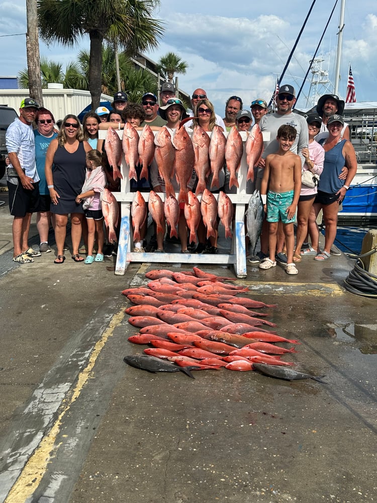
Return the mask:
<path fill-rule="evenodd" d="M 174 196 L 175 192 L 171 179 L 174 172 L 175 151 L 171 143 L 171 136 L 166 127 L 162 127 L 154 137 L 154 159 L 158 167 L 158 173 L 165 182 L 166 197 Z"/>

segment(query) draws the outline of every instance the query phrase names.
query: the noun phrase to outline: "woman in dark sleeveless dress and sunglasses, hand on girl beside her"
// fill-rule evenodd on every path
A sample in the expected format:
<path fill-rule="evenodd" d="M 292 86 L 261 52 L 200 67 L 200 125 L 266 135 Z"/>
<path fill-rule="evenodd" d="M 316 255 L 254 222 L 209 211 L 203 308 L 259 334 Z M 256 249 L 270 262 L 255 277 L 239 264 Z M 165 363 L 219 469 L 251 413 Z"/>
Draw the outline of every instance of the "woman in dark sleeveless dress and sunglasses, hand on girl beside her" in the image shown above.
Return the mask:
<path fill-rule="evenodd" d="M 63 247 L 68 214 L 71 216 L 72 259 L 75 262 L 84 260 L 78 255 L 84 213 L 82 205 L 75 199 L 85 180 L 85 155 L 89 150 L 91 146 L 83 141 L 80 121 L 75 115 L 67 115 L 58 137 L 48 147 L 45 164 L 51 212 L 55 215 L 55 264 L 63 264 L 65 260 Z"/>

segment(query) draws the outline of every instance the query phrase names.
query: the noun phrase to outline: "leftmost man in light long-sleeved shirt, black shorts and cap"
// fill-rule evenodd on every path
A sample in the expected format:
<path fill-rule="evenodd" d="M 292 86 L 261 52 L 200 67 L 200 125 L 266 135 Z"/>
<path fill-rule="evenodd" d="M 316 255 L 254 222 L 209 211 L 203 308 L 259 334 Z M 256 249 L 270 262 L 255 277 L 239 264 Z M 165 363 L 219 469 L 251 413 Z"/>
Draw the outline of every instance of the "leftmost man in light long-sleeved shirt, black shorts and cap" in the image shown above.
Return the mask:
<path fill-rule="evenodd" d="M 39 176 L 35 161 L 35 137 L 32 123 L 39 109 L 32 98 L 20 105 L 20 117 L 8 127 L 6 143 L 11 164 L 7 167 L 9 209 L 14 216 L 13 261 L 19 264 L 34 262 L 40 251 L 29 247 L 29 229 L 32 213 L 39 209 Z"/>

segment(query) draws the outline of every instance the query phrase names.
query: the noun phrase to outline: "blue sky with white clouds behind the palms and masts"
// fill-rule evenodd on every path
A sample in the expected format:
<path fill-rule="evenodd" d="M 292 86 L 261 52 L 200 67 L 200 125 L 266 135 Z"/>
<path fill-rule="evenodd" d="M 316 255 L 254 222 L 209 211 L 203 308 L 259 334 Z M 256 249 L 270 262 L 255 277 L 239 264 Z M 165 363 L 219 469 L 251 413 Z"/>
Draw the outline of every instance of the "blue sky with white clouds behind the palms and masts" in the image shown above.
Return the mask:
<path fill-rule="evenodd" d="M 291 0 L 282 4 L 265 2 L 219 2 L 218 0 L 161 0 L 155 18 L 164 22 L 165 32 L 156 50 L 147 55 L 157 61 L 168 51 L 176 53 L 189 64 L 185 75 L 178 75 L 178 86 L 192 94 L 196 88 L 207 92 L 215 110 L 222 117 L 225 102 L 232 95 L 242 98 L 244 108 L 252 100 L 269 102 L 303 26 L 313 0 Z M 0 0 L 0 67 L 2 76 L 15 76 L 26 68 L 26 0 Z M 308 23 L 297 44 L 283 83 L 302 86 L 309 61 L 328 22 L 335 0 L 316 0 Z M 303 87 L 297 108 L 311 108 L 318 95 L 333 93 L 335 82 L 336 43 L 340 3 L 331 18 L 317 58 L 323 59 L 322 70 L 328 72 L 330 83 L 311 86 L 312 73 Z M 348 65 L 351 63 L 356 100 L 377 101 L 377 2 L 346 0 L 343 47 L 338 94 L 345 98 Z M 67 49 L 59 45 L 47 47 L 40 42 L 40 54 L 63 64 L 76 59 L 80 49 L 89 49 L 87 38 Z"/>

